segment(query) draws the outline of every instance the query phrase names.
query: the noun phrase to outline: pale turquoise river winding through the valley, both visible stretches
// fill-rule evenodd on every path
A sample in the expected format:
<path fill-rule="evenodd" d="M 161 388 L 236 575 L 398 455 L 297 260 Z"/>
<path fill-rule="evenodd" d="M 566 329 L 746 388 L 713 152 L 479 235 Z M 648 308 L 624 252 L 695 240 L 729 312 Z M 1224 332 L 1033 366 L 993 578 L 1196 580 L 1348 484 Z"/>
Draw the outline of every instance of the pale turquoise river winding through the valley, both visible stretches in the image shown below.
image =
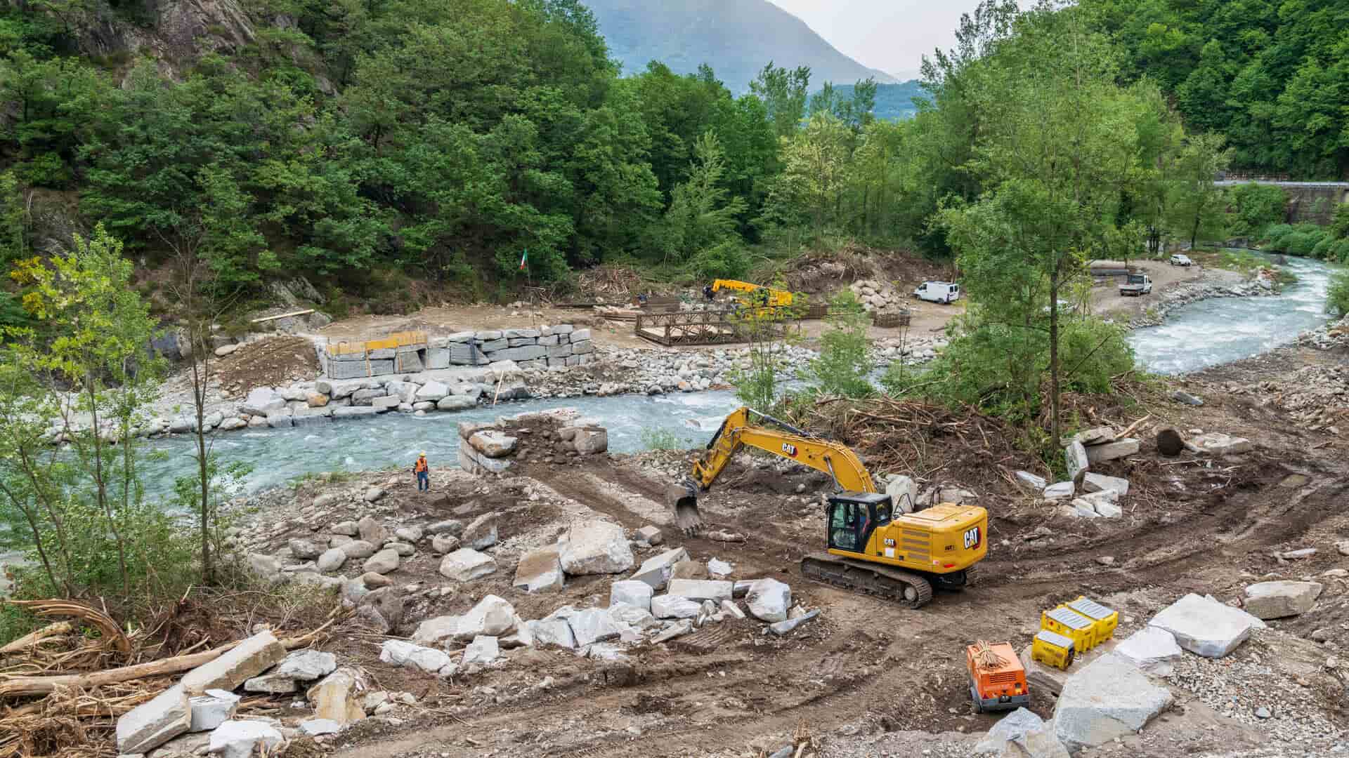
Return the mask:
<path fill-rule="evenodd" d="M 1331 268 L 1299 258 L 1287 259 L 1286 267 L 1298 282 L 1279 297 L 1201 301 L 1172 312 L 1160 326 L 1132 332 L 1129 341 L 1140 366 L 1159 374 L 1197 371 L 1265 352 L 1325 324 Z M 256 492 L 305 473 L 410 468 L 421 450 L 426 452 L 433 468 L 457 465 L 456 425 L 460 421 L 490 421 L 554 407 L 576 407 L 584 415 L 599 418 L 608 428 L 614 452 L 642 450 L 652 434 L 660 432 L 693 448 L 706 444 L 737 405 L 730 391 L 541 399 L 461 413 L 422 417 L 389 413 L 320 428 L 232 432 L 214 437 L 213 445 L 223 460 L 252 467 L 244 490 Z M 171 477 L 190 471 L 193 442 L 177 437 L 150 445 L 165 456 L 143 464 L 147 490 L 170 492 Z"/>

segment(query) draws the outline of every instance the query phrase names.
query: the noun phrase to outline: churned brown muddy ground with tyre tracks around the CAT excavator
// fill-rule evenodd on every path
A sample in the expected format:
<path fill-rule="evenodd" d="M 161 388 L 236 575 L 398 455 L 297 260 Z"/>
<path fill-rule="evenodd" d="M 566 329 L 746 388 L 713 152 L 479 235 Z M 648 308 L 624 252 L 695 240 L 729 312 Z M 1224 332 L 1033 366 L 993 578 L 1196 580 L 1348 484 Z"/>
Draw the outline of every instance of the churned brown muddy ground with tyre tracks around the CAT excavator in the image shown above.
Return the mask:
<path fill-rule="evenodd" d="M 1313 359 L 1344 360 L 1309 352 Z M 743 544 L 687 538 L 669 526 L 662 490 L 684 471 L 687 453 L 525 463 L 499 480 L 436 471 L 429 495 L 415 492 L 407 476 L 372 477 L 387 490 L 378 506 L 390 526 L 500 514 L 500 544 L 492 550 L 500 568 L 492 576 L 449 583 L 436 573 L 438 557 L 422 546 L 390 575 L 411 589 L 399 630 L 405 635 L 420 620 L 461 614 L 487 593 L 506 597 L 526 619 L 564 604 L 604 607 L 614 577 L 569 577 L 563 591 L 544 595 L 511 587 L 523 552 L 595 514 L 627 530 L 662 526 L 665 545 L 639 548 L 638 562 L 683 545 L 697 561 L 733 562 L 733 579 L 786 581 L 793 600 L 820 608 L 822 616 L 785 638 L 765 635 L 753 619 L 711 624 L 630 650 L 631 662 L 622 665 L 561 650 L 514 650 L 503 668 L 453 680 L 380 664 L 382 637 L 349 620 L 325 647 L 364 666 L 379 688 L 415 693 L 418 704 L 390 713 L 397 723 L 370 719 L 322 749 L 352 758 L 730 757 L 777 750 L 804 726 L 823 755 L 969 755 L 975 738 L 967 735 L 998 718 L 974 715 L 969 705 L 962 651 L 975 639 L 1021 647 L 1037 630 L 1041 610 L 1082 593 L 1120 611 L 1122 638 L 1188 592 L 1229 602 L 1261 579 L 1349 568 L 1336 548 L 1349 540 L 1349 445 L 1290 422 L 1278 403 L 1221 390 L 1242 372 L 1260 371 L 1253 360 L 1191 378 L 1186 387 L 1205 397 L 1202 407 L 1176 403 L 1168 387 L 1147 384 L 1112 398 L 1070 401 L 1085 421 L 1125 426 L 1144 419 L 1140 453 L 1099 467 L 1133 483 L 1117 521 L 1062 515 L 1018 491 L 1010 472 L 1033 469 L 1035 461 L 996 426 L 962 428 L 935 415 L 915 417 L 909 428 L 839 422 L 873 471 L 959 484 L 990 511 L 990 552 L 979 583 L 938 593 L 917 611 L 800 576 L 801 556 L 824 540 L 817 499 L 828 479 L 777 459 L 742 456 L 701 499 L 710 527 L 745 534 Z M 1188 453 L 1167 459 L 1152 442 L 1161 426 L 1248 437 L 1256 450 L 1219 460 Z M 1040 468 L 1037 473 L 1048 473 Z M 324 487 L 306 484 L 295 502 Z M 367 513 L 370 507 L 352 504 L 325 521 Z M 291 526 L 274 534 L 272 548 L 320 529 Z M 1298 561 L 1279 557 L 1299 548 L 1318 552 Z M 1346 669 L 1336 658 L 1349 646 L 1349 584 L 1333 576 L 1319 581 L 1325 593 L 1313 611 L 1271 622 L 1226 660 L 1193 662 L 1198 678 L 1171 682 L 1171 711 L 1141 735 L 1085 755 L 1326 754 L 1349 727 Z M 1256 718 L 1259 708 L 1272 716 Z M 1054 697 L 1036 692 L 1032 709 L 1051 716 Z"/>

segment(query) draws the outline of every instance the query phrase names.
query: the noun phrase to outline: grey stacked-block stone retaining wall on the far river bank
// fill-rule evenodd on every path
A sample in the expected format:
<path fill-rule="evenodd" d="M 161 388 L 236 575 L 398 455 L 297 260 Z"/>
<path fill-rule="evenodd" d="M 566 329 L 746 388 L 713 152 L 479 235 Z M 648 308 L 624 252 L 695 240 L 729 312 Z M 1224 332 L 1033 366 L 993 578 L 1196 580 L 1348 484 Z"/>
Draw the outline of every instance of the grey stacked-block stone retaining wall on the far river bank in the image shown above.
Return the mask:
<path fill-rule="evenodd" d="M 590 329 L 569 324 L 537 329 L 491 329 L 432 337 L 426 344 L 322 356 L 329 379 L 417 374 L 451 366 L 488 366 L 511 360 L 521 370 L 584 366 L 595 353 Z"/>

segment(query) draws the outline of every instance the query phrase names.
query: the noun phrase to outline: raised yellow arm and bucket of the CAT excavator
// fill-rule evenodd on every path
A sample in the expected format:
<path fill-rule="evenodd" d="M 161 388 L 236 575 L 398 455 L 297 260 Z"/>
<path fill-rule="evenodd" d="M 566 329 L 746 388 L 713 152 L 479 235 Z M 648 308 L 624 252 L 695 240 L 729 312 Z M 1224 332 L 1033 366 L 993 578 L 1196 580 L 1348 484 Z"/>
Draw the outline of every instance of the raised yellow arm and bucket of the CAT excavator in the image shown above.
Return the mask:
<path fill-rule="evenodd" d="M 751 424 L 766 421 L 780 429 Z M 674 507 L 674 518 L 685 533 L 696 533 L 703 519 L 697 511 L 697 490 L 707 490 L 722 475 L 726 465 L 741 448 L 758 448 L 776 456 L 823 471 L 834 477 L 840 490 L 853 492 L 876 492 L 871 475 L 847 445 L 811 437 L 805 432 L 781 422 L 770 415 L 742 407 L 722 421 L 712 441 L 693 461 L 692 476 L 683 484 L 669 490 L 668 498 Z"/>

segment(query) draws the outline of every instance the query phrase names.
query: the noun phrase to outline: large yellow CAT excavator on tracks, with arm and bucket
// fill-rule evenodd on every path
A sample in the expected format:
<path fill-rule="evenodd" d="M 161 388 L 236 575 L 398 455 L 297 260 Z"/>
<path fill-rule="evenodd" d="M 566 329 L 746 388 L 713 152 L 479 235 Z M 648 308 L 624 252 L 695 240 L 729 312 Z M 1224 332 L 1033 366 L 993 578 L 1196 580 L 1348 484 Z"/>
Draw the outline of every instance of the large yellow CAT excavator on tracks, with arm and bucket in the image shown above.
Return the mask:
<path fill-rule="evenodd" d="M 751 418 L 776 426 L 751 424 Z M 828 549 L 801 558 L 801 573 L 817 581 L 881 595 L 911 608 L 932 599 L 932 588 L 974 583 L 974 565 L 987 554 L 989 513 L 942 503 L 916 510 L 876 491 L 871 475 L 847 445 L 815 437 L 742 407 L 726 417 L 693 461 L 692 476 L 666 491 L 687 534 L 703 526 L 697 492 L 707 490 L 742 448 L 758 448 L 834 477 L 824 514 Z M 905 498 L 907 500 L 908 498 Z"/>

